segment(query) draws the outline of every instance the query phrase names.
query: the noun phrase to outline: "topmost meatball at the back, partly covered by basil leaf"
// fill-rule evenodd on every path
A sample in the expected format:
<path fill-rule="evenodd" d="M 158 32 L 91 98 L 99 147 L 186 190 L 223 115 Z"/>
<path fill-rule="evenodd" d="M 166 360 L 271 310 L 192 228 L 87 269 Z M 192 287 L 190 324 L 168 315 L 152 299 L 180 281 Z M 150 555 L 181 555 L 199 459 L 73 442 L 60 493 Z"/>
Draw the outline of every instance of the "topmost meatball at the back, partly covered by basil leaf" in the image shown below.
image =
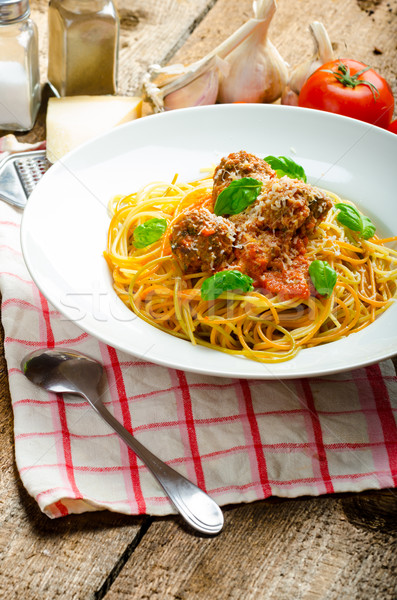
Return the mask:
<path fill-rule="evenodd" d="M 216 201 L 219 194 L 232 181 L 243 177 L 253 177 L 264 182 L 276 177 L 276 172 L 267 162 L 244 150 L 229 154 L 229 156 L 222 158 L 214 171 L 213 201 Z"/>

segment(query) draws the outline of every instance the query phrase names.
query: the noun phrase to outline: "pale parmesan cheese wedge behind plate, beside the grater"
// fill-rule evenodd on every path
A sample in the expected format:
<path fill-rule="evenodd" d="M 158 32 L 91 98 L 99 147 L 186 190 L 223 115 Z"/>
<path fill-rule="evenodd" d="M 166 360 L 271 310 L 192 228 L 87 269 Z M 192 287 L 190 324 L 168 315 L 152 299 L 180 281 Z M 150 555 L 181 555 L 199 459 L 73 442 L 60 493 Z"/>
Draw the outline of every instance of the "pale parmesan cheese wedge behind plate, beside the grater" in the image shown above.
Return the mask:
<path fill-rule="evenodd" d="M 80 144 L 142 115 L 136 96 L 50 98 L 47 109 L 47 158 L 54 163 Z"/>

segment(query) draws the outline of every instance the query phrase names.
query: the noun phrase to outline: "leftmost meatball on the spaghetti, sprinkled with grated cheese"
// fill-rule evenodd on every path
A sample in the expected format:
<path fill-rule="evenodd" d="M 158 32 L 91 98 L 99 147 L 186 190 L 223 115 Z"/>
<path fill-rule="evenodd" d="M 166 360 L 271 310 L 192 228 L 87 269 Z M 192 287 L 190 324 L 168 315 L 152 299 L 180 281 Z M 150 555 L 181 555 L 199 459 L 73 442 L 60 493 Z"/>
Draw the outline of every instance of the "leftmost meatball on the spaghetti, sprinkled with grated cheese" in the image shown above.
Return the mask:
<path fill-rule="evenodd" d="M 233 255 L 233 223 L 206 208 L 187 212 L 174 226 L 171 249 L 185 273 L 215 271 Z"/>

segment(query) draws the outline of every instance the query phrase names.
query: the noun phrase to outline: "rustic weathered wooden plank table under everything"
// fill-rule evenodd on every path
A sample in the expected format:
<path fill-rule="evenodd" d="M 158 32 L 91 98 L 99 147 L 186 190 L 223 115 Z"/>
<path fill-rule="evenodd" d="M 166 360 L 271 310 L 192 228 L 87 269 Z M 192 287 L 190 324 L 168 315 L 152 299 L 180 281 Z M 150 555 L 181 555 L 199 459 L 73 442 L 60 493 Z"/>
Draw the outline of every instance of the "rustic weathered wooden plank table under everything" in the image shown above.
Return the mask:
<path fill-rule="evenodd" d="M 31 0 L 46 77 L 47 2 Z M 137 91 L 152 62 L 204 55 L 251 15 L 251 0 L 119 0 L 120 93 Z M 397 99 L 396 0 L 278 0 L 270 37 L 291 64 L 310 55 L 320 20 L 338 56 L 371 64 Z M 33 131 L 45 137 L 48 89 Z M 55 521 L 22 487 L 13 454 L 6 365 L 0 357 L 0 597 L 21 600 L 327 599 L 397 597 L 393 491 L 225 509 L 219 537 L 192 535 L 178 518 L 88 513 Z"/>

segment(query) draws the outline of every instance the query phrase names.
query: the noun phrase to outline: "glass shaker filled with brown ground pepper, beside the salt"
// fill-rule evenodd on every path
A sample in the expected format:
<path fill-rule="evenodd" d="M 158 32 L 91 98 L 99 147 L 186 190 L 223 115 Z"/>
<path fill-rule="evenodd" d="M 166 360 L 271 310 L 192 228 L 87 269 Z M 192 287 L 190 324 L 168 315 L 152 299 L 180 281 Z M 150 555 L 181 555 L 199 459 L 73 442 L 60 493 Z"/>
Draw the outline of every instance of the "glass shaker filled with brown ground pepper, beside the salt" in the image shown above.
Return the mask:
<path fill-rule="evenodd" d="M 112 0 L 50 0 L 48 81 L 56 96 L 117 92 L 119 29 Z"/>

